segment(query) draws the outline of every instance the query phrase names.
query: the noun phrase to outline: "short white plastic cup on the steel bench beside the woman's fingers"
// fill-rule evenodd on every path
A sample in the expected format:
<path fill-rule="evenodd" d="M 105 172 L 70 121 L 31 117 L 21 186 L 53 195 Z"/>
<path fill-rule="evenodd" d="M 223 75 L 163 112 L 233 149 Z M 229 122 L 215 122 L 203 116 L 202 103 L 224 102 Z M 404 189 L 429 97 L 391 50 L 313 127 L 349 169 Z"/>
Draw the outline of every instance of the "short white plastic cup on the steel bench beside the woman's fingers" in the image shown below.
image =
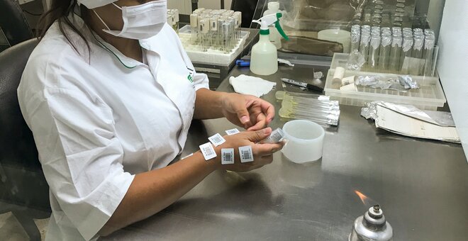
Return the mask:
<path fill-rule="evenodd" d="M 310 120 L 291 120 L 283 126 L 287 140 L 282 152 L 291 162 L 315 162 L 323 153 L 325 130 Z"/>

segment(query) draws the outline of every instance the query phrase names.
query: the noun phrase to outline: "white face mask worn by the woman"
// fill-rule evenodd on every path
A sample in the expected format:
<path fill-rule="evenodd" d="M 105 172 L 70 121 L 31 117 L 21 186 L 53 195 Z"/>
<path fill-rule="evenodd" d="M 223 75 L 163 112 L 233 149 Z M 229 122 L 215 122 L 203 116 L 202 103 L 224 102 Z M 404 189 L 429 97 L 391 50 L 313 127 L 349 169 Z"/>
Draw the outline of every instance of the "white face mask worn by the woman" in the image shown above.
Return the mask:
<path fill-rule="evenodd" d="M 112 4 L 122 11 L 123 28 L 121 31 L 108 28 L 107 24 L 93 10 L 107 28 L 103 29 L 103 31 L 108 34 L 121 38 L 142 40 L 157 35 L 166 23 L 166 0 L 150 1 L 138 6 L 120 7 L 114 3 Z"/>

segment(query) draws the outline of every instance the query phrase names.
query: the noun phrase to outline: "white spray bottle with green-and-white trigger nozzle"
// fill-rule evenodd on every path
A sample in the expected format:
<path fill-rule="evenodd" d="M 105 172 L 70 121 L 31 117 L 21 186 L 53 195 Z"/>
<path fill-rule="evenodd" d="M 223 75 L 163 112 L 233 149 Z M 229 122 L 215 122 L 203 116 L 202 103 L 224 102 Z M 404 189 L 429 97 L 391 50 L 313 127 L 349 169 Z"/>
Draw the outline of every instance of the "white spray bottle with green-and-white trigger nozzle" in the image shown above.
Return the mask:
<path fill-rule="evenodd" d="M 263 16 L 259 20 L 252 21 L 254 23 L 259 23 L 261 26 L 260 40 L 253 45 L 250 59 L 250 71 L 254 74 L 269 75 L 278 71 L 277 47 L 269 41 L 268 26 L 274 23 L 274 27 L 277 28 L 279 34 L 281 34 L 284 39 L 289 40 L 288 36 L 286 36 L 279 25 L 279 18 L 281 17 L 282 13 L 273 13 Z"/>

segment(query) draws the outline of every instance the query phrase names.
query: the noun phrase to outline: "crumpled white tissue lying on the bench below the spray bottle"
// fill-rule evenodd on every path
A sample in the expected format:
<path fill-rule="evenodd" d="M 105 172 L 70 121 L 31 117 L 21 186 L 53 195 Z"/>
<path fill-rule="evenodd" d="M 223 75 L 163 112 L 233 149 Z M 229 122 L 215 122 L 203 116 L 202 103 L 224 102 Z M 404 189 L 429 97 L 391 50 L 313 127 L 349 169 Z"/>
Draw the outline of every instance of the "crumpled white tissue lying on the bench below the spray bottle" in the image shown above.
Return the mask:
<path fill-rule="evenodd" d="M 229 84 L 234 87 L 234 91 L 239 94 L 251 94 L 260 97 L 267 94 L 277 85 L 275 82 L 269 82 L 259 77 L 252 77 L 240 74 L 238 77 L 230 77 Z"/>

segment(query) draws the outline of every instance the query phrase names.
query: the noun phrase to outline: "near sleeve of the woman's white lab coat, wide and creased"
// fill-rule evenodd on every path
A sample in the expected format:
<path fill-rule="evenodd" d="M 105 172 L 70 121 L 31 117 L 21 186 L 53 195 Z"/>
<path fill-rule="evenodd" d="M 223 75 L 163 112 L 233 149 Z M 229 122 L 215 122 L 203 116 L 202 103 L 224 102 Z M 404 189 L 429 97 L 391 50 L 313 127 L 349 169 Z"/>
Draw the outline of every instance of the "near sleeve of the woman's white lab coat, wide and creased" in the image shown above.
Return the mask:
<path fill-rule="evenodd" d="M 90 240 L 116 211 L 134 177 L 123 170 L 112 110 L 84 92 L 60 88 L 26 101 L 21 108 L 50 191 Z"/>

